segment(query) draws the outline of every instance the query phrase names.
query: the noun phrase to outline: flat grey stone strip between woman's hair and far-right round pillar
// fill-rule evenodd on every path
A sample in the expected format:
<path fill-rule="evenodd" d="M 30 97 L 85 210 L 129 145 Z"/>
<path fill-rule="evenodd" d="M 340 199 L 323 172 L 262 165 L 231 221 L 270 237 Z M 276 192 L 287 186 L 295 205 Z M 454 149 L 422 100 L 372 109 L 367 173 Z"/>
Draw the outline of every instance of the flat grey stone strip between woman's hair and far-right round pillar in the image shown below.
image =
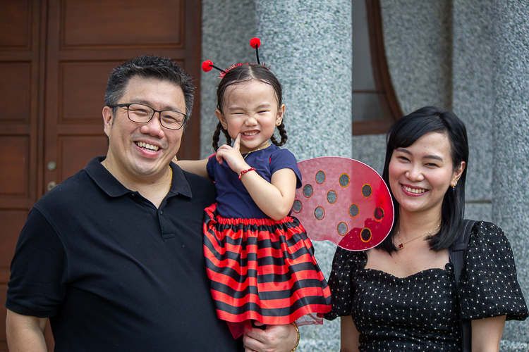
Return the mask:
<path fill-rule="evenodd" d="M 466 218 L 492 221 L 493 0 L 454 0 L 452 109 L 465 122 L 470 157 Z"/>

